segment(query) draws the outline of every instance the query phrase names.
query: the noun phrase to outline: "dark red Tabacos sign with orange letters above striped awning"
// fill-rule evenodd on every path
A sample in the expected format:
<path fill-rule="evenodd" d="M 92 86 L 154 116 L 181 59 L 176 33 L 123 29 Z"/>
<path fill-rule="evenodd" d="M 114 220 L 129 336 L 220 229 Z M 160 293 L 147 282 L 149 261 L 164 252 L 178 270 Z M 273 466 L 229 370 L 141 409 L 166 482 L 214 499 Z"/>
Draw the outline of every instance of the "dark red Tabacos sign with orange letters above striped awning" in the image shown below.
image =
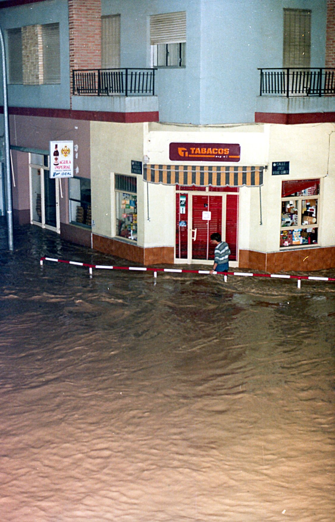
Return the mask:
<path fill-rule="evenodd" d="M 171 160 L 177 161 L 240 161 L 241 146 L 237 143 L 170 143 Z"/>

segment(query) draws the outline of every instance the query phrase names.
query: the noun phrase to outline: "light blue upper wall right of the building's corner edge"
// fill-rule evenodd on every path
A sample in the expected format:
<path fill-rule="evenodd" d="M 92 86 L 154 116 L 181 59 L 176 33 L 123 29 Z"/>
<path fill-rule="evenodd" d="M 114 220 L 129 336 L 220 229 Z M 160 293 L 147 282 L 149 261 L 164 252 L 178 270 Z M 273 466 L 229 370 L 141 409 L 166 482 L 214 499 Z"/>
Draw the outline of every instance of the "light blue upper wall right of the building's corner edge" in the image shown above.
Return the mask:
<path fill-rule="evenodd" d="M 283 66 L 283 9 L 312 8 L 311 67 L 325 66 L 326 0 L 203 0 L 201 123 L 253 122 L 258 67 Z"/>

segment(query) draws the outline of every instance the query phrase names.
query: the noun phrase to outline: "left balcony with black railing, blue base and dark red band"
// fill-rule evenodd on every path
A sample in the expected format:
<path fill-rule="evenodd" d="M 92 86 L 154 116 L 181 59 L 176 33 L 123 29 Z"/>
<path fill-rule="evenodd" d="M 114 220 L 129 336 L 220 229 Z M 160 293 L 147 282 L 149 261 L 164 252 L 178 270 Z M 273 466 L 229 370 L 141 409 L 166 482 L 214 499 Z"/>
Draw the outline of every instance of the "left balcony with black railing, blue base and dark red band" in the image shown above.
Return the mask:
<path fill-rule="evenodd" d="M 134 121 L 158 121 L 158 97 L 155 96 L 155 70 L 77 69 L 72 73 L 74 111 L 114 114 L 137 113 Z M 143 115 L 144 120 L 139 114 Z M 117 119 L 111 121 L 126 121 Z M 127 120 L 128 121 L 128 120 Z"/>

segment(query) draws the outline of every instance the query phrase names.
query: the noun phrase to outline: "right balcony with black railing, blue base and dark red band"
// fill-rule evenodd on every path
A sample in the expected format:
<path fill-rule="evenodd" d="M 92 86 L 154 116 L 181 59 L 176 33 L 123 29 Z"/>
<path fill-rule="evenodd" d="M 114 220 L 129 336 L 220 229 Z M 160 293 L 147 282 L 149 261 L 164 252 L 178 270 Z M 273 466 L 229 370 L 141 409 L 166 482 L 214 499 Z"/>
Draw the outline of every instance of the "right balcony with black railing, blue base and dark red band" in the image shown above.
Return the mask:
<path fill-rule="evenodd" d="M 331 113 L 334 111 L 335 68 L 288 67 L 258 70 L 259 96 L 255 121 L 273 121 L 270 117 L 264 120 L 264 115 L 269 114 L 300 114 L 300 120 L 306 123 L 316 121 L 317 114 L 322 114 L 320 121 L 330 121 L 329 118 L 333 118 Z"/>

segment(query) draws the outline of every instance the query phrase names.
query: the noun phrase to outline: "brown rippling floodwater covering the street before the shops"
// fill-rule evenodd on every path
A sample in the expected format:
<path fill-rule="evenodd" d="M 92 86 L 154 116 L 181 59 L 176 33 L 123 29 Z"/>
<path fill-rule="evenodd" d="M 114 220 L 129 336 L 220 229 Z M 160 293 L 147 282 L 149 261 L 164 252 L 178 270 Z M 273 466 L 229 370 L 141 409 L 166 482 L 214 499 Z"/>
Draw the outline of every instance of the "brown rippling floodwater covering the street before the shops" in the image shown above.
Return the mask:
<path fill-rule="evenodd" d="M 1 234 L 2 522 L 334 520 L 335 283 Z"/>

